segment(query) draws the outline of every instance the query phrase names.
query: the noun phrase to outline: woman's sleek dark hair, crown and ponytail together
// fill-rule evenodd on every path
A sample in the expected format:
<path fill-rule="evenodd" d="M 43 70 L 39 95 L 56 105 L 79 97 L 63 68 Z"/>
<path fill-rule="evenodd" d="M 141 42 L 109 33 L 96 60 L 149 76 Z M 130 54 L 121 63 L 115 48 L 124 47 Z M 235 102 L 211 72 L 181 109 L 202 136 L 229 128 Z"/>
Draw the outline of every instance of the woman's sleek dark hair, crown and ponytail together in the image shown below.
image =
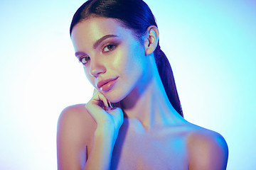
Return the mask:
<path fill-rule="evenodd" d="M 125 28 L 133 30 L 134 35 L 142 37 L 149 26 L 156 26 L 156 21 L 149 6 L 142 0 L 89 0 L 75 12 L 70 25 L 70 35 L 73 27 L 92 16 L 115 18 Z M 154 51 L 156 66 L 164 85 L 166 94 L 175 110 L 183 116 L 181 102 L 178 98 L 174 74 L 171 65 L 158 43 Z"/>

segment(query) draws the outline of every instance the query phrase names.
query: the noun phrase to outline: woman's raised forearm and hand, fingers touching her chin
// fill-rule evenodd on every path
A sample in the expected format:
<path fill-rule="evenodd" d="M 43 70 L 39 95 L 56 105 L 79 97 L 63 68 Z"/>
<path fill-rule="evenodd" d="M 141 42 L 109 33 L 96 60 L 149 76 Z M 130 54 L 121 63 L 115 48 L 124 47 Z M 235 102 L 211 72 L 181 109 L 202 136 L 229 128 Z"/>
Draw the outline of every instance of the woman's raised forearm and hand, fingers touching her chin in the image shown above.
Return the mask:
<path fill-rule="evenodd" d="M 97 123 L 97 128 L 85 169 L 110 169 L 114 143 L 123 123 L 122 110 L 113 108 L 110 101 L 107 101 L 107 98 L 98 91 L 95 91 L 86 108 Z"/>

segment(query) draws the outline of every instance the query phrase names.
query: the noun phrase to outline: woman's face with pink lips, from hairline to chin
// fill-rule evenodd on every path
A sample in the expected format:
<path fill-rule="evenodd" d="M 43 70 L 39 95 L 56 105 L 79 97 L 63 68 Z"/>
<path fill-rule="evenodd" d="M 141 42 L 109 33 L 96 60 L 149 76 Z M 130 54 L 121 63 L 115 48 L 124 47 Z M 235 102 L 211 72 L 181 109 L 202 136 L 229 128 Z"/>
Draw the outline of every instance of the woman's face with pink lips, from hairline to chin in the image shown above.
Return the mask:
<path fill-rule="evenodd" d="M 75 56 L 90 83 L 113 103 L 145 83 L 144 45 L 113 18 L 95 17 L 78 23 L 71 39 Z"/>

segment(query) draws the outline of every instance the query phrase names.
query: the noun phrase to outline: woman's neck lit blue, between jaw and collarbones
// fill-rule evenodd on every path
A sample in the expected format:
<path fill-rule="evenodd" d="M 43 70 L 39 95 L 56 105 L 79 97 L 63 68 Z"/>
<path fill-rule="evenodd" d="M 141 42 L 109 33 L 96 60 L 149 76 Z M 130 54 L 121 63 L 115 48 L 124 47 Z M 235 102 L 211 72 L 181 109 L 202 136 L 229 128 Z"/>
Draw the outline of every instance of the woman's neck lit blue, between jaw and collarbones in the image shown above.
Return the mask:
<path fill-rule="evenodd" d="M 184 121 L 171 106 L 155 63 L 151 64 L 151 69 L 147 68 L 146 79 L 139 82 L 120 104 L 124 117 L 139 120 L 146 130 Z"/>

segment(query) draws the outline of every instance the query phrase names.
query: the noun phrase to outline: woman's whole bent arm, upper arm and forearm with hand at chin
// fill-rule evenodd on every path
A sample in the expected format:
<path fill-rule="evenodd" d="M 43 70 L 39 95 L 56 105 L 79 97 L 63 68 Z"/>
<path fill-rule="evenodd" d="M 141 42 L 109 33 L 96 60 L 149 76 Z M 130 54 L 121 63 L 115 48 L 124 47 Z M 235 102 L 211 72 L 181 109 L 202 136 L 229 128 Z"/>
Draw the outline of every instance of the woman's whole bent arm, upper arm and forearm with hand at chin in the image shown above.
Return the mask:
<path fill-rule="evenodd" d="M 109 101 L 99 92 L 83 107 L 84 118 L 70 109 L 65 109 L 60 115 L 57 135 L 58 169 L 83 169 L 84 165 L 84 169 L 110 169 L 114 142 L 123 121 L 122 110 L 110 106 Z M 85 118 L 86 115 L 90 118 Z M 90 140 L 92 149 L 86 157 Z"/>

